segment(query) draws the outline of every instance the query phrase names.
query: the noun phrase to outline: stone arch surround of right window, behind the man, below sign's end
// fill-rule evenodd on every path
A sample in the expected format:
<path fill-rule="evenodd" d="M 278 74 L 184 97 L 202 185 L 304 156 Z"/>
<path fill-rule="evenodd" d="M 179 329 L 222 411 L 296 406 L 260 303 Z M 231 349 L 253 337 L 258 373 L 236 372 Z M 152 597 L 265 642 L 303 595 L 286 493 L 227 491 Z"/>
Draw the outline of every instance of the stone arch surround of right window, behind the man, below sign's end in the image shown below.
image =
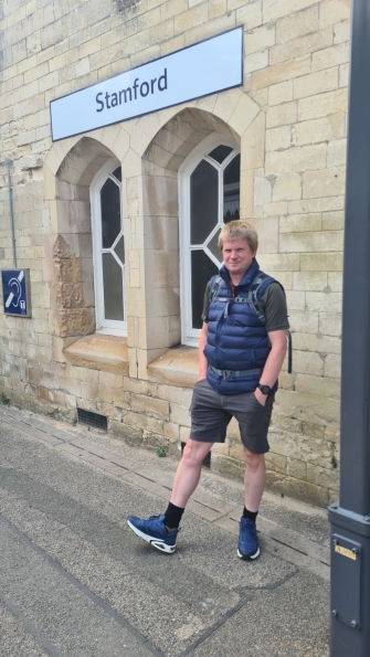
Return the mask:
<path fill-rule="evenodd" d="M 240 135 L 223 119 L 204 109 L 186 107 L 162 125 L 142 152 L 138 183 L 142 251 L 141 261 L 139 257 L 136 261 L 140 286 L 128 288 L 127 305 L 128 336 L 134 341 L 129 347 L 135 349 L 131 362 L 138 364 L 141 375 L 149 362 L 180 343 L 178 170 L 184 158 L 212 133 L 226 136 L 236 146 L 241 144 Z M 133 200 L 128 192 L 128 208 Z M 145 308 L 139 330 L 138 318 L 133 314 L 138 307 Z"/>

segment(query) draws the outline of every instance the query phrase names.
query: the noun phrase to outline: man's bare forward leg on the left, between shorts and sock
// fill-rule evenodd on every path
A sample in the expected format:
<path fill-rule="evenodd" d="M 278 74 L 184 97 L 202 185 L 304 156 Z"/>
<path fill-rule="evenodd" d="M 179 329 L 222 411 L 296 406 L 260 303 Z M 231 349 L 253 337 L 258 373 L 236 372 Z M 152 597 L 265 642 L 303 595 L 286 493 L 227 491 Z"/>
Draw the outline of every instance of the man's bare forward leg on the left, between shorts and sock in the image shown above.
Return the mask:
<path fill-rule="evenodd" d="M 184 509 L 194 492 L 202 469 L 202 463 L 213 443 L 198 443 L 189 438 L 175 475 L 170 502 Z"/>

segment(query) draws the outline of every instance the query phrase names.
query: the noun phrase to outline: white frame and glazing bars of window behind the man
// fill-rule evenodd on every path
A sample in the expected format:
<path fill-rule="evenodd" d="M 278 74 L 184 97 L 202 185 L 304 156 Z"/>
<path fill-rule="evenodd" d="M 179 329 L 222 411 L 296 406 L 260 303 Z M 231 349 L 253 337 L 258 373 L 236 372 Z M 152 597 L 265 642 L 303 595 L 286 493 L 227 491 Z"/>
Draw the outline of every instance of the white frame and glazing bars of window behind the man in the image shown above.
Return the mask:
<path fill-rule="evenodd" d="M 195 148 L 189 153 L 179 167 L 179 221 L 180 221 L 180 308 L 181 308 L 181 342 L 189 347 L 198 346 L 200 329 L 192 328 L 192 307 L 191 307 L 191 243 L 190 243 L 190 176 L 198 167 L 199 162 L 203 159 L 212 162 L 214 160 L 208 158 L 207 155 L 218 146 L 229 146 L 233 150 L 224 159 L 219 169 L 219 221 L 210 235 L 209 239 L 219 231 L 223 225 L 223 184 L 221 182 L 221 174 L 228 163 L 240 153 L 240 148 L 230 137 L 212 133 L 205 139 L 203 139 Z M 218 261 L 215 256 L 209 251 L 203 244 L 203 250 L 211 261 L 220 267 L 222 259 Z"/>

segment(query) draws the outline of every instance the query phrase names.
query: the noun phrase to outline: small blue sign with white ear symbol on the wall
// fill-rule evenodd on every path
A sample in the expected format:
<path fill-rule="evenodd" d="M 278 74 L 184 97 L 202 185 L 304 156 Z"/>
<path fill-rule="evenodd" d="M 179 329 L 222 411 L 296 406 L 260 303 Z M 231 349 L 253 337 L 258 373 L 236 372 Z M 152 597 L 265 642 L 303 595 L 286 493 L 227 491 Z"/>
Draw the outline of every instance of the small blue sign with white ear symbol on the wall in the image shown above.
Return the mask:
<path fill-rule="evenodd" d="M 3 311 L 31 317 L 30 269 L 1 269 Z"/>

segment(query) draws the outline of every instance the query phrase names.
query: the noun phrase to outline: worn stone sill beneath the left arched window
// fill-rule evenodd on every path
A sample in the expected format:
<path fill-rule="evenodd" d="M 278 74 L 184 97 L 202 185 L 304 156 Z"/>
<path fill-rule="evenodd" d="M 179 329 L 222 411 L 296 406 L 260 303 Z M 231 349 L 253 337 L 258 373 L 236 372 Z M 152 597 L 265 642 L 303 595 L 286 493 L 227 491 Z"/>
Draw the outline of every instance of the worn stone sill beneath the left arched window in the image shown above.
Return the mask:
<path fill-rule="evenodd" d="M 127 339 L 93 333 L 64 349 L 66 360 L 81 368 L 128 374 Z"/>

